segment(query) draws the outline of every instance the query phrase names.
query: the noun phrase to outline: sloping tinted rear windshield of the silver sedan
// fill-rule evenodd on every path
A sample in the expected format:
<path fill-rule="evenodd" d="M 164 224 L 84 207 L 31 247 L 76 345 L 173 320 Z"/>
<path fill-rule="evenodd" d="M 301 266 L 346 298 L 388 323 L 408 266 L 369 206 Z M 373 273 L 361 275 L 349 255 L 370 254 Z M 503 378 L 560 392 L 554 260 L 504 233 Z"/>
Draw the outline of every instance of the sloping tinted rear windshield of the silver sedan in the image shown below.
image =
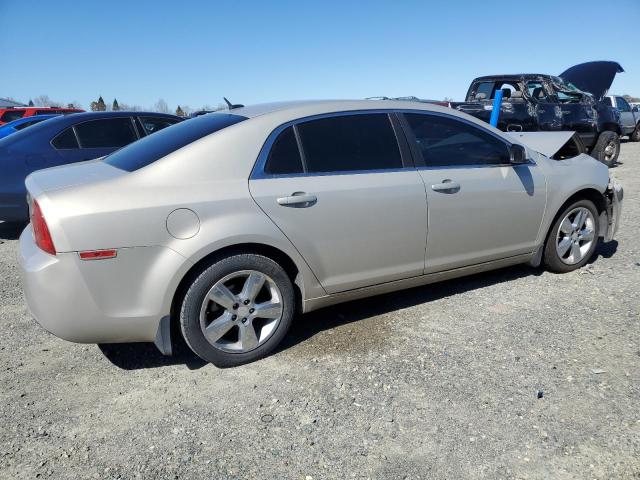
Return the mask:
<path fill-rule="evenodd" d="M 246 120 L 240 115 L 211 113 L 144 137 L 105 158 L 105 163 L 133 172 L 207 135 Z"/>

